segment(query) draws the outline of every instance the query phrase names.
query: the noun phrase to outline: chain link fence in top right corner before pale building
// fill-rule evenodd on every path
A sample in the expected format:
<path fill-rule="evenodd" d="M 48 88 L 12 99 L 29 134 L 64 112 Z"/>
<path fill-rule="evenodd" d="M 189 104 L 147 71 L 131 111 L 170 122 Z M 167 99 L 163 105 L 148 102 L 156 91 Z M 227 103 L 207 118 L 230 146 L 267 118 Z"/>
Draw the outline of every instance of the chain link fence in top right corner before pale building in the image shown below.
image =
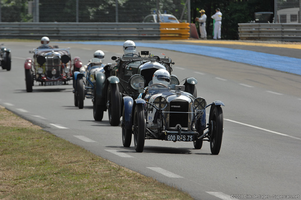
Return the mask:
<path fill-rule="evenodd" d="M 301 23 L 301 0 L 275 0 L 275 23 Z"/>

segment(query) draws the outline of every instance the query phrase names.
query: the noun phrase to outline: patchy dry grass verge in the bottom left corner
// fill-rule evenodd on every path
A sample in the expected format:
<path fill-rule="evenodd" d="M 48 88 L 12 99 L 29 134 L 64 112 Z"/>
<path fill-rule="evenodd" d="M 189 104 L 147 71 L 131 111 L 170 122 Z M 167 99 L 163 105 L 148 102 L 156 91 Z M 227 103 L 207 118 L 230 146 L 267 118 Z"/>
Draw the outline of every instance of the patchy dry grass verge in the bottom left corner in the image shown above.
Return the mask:
<path fill-rule="evenodd" d="M 0 106 L 0 199 L 193 199 Z"/>

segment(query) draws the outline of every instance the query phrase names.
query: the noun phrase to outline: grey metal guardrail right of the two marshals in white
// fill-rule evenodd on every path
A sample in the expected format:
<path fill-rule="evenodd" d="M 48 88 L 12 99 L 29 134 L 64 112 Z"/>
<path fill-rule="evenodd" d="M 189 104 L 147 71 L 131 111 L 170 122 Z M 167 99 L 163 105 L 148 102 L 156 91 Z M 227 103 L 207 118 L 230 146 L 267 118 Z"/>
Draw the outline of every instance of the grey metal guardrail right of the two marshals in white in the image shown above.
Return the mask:
<path fill-rule="evenodd" d="M 301 23 L 239 23 L 241 40 L 301 41 Z"/>

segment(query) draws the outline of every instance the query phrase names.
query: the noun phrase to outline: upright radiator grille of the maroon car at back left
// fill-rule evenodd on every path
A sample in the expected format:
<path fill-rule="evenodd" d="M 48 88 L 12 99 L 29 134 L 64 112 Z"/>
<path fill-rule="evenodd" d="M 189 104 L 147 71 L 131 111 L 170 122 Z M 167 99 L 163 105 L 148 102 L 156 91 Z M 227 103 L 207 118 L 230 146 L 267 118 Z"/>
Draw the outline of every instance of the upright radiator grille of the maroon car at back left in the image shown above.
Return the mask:
<path fill-rule="evenodd" d="M 57 79 L 60 76 L 61 68 L 62 66 L 60 65 L 60 57 L 57 55 L 53 56 L 47 56 L 46 57 L 46 62 L 45 62 L 45 67 L 46 67 L 46 76 L 48 79 Z M 56 74 L 52 75 L 52 70 L 56 70 Z"/>

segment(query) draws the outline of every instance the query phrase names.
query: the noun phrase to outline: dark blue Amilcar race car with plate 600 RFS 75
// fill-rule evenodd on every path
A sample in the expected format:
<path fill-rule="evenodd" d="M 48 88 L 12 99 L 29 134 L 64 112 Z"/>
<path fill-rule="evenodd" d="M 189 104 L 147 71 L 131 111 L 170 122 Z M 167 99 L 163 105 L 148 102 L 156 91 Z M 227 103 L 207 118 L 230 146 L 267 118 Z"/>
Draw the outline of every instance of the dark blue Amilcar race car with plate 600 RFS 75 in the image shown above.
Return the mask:
<path fill-rule="evenodd" d="M 196 149 L 202 147 L 203 141 L 209 141 L 211 153 L 219 154 L 223 135 L 221 106 L 225 106 L 224 103 L 215 101 L 207 105 L 204 98 L 195 98 L 184 92 L 184 88 L 175 86 L 172 90 L 155 83 L 148 87 L 143 98 L 123 97 L 123 146 L 131 145 L 133 134 L 137 152 L 143 151 L 145 139 L 157 139 L 193 142 Z M 206 126 L 205 108 L 209 106 L 209 123 Z"/>

